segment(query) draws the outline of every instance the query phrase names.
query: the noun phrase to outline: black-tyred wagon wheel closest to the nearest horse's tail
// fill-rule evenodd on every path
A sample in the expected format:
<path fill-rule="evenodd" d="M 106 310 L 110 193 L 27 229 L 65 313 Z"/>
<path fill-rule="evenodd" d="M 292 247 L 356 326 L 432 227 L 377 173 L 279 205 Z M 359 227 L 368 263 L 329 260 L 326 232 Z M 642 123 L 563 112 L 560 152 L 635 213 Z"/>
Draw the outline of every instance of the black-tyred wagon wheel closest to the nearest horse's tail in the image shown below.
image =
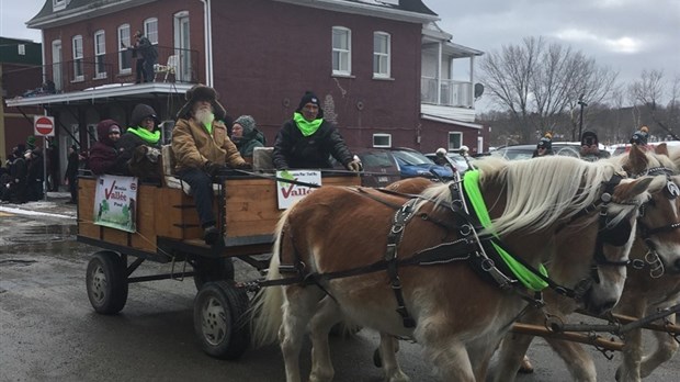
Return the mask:
<path fill-rule="evenodd" d="M 203 351 L 237 359 L 248 348 L 248 295 L 230 281 L 208 282 L 194 301 L 194 332 Z"/>

